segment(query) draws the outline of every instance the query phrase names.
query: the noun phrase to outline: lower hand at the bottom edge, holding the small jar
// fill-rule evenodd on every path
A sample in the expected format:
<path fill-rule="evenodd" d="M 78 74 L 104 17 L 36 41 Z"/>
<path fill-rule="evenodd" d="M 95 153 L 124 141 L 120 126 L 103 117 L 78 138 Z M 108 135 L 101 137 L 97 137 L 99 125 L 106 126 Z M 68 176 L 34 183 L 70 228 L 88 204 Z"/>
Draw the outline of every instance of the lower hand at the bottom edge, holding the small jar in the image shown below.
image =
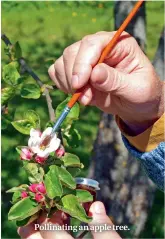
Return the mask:
<path fill-rule="evenodd" d="M 110 218 L 106 215 L 106 211 L 104 205 L 101 202 L 94 202 L 90 207 L 90 214 L 92 214 L 93 220 L 90 223 L 90 226 L 95 225 L 110 225 Z M 38 222 L 40 225 L 44 226 L 44 224 L 56 224 L 62 226 L 65 225 L 64 221 L 66 220 L 65 215 L 62 212 L 56 212 L 51 219 L 46 219 L 44 215 L 42 215 Z M 103 239 L 121 239 L 119 234 L 116 231 L 102 231 L 102 232 L 94 232 L 91 231 L 93 239 L 100 239 L 100 236 Z M 35 230 L 35 224 L 31 223 L 25 227 L 18 228 L 18 234 L 22 239 L 73 239 L 73 237 L 66 231 L 39 231 Z M 80 238 L 79 238 L 80 239 Z"/>

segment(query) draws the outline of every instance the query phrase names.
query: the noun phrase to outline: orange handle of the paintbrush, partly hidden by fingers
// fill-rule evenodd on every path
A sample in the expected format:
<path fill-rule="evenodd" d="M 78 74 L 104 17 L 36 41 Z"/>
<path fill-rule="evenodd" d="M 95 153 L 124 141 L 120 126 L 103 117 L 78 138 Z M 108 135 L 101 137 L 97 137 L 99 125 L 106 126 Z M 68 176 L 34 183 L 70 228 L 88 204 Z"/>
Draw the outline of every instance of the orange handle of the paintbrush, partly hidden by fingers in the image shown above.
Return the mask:
<path fill-rule="evenodd" d="M 125 30 L 125 28 L 128 26 L 128 24 L 130 23 L 130 21 L 132 20 L 132 18 L 135 16 L 135 14 L 137 13 L 137 11 L 139 10 L 139 8 L 141 7 L 142 3 L 144 2 L 144 0 L 140 0 L 138 1 L 135 6 L 133 7 L 133 9 L 131 10 L 131 12 L 129 13 L 129 15 L 127 16 L 127 18 L 124 20 L 124 22 L 122 23 L 122 25 L 120 26 L 120 28 L 117 30 L 117 32 L 115 33 L 114 37 L 111 39 L 111 41 L 108 43 L 108 45 L 105 47 L 105 49 L 103 50 L 101 57 L 98 61 L 97 64 L 104 62 L 106 56 L 110 53 L 110 51 L 112 50 L 112 48 L 114 47 L 114 45 L 116 44 L 116 42 L 118 41 L 120 35 L 122 34 L 122 32 Z M 74 93 L 74 95 L 72 96 L 72 98 L 70 99 L 70 101 L 68 102 L 67 106 L 69 108 L 72 108 L 73 105 L 76 103 L 76 101 L 79 99 L 79 97 L 82 95 L 83 89 L 80 89 L 78 91 L 76 91 L 76 93 Z"/>

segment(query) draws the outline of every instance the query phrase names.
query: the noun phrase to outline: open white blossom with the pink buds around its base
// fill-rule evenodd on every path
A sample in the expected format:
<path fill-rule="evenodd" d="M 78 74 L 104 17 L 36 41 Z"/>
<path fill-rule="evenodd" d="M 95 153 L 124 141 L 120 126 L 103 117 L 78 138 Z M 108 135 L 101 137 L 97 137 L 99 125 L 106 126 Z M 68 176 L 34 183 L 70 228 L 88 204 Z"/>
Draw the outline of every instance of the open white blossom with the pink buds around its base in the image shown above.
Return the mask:
<path fill-rule="evenodd" d="M 51 127 L 48 127 L 43 133 L 40 130 L 31 129 L 28 146 L 21 148 L 21 159 L 29 161 L 34 159 L 36 163 L 44 164 L 53 152 L 55 152 L 55 156 L 62 157 L 65 154 L 65 150 L 61 145 L 61 140 L 57 137 L 56 133 L 53 135 L 51 133 Z"/>

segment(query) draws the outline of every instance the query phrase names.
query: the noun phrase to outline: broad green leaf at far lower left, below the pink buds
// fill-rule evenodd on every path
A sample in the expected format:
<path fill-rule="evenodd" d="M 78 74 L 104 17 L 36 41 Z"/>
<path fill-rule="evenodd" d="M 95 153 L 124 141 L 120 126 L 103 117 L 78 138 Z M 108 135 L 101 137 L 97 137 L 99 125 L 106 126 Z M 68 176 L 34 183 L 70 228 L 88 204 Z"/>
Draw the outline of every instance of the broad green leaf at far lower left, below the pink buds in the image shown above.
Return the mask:
<path fill-rule="evenodd" d="M 32 216 L 41 209 L 41 204 L 31 200 L 29 197 L 24 198 L 14 204 L 8 213 L 9 220 L 23 220 Z"/>

